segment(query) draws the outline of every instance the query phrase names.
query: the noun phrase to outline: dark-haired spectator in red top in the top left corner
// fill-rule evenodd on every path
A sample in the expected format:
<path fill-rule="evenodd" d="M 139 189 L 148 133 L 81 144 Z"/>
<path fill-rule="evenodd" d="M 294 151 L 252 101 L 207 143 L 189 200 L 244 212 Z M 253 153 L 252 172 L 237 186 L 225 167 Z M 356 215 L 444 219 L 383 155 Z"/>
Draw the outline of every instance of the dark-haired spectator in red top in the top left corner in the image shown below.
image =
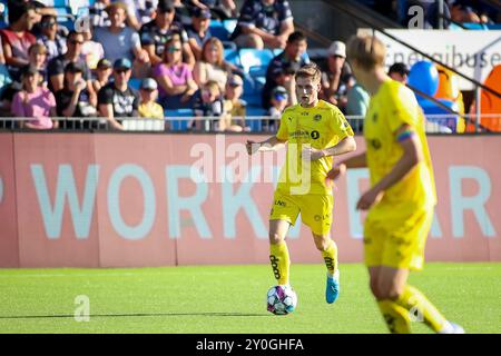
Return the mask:
<path fill-rule="evenodd" d="M 29 2 L 9 2 L 9 27 L 0 30 L 3 56 L 11 75 L 19 77 L 20 69 L 28 65 L 28 49 L 36 42 L 30 33 L 37 13 Z"/>

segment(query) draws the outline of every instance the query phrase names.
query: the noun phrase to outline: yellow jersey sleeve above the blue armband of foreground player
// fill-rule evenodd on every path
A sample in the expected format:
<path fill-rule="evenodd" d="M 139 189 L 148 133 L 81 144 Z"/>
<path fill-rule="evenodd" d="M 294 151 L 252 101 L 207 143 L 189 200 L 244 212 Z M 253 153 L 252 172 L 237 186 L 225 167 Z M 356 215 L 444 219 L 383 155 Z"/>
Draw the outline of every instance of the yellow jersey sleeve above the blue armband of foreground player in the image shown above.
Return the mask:
<path fill-rule="evenodd" d="M 409 125 L 413 128 L 418 126 L 419 108 L 414 93 L 399 86 L 392 90 L 386 101 L 387 123 L 392 132 L 395 132 L 402 125 Z"/>

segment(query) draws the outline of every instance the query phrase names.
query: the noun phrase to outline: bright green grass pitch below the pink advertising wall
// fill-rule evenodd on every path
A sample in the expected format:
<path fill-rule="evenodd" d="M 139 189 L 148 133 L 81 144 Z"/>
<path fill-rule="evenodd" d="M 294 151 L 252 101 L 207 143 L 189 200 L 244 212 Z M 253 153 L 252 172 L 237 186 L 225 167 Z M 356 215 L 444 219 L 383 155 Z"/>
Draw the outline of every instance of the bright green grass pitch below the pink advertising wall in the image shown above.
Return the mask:
<path fill-rule="evenodd" d="M 324 300 L 325 267 L 292 265 L 296 312 L 274 316 L 271 267 L 0 269 L 0 333 L 386 333 L 362 265 L 341 265 L 341 296 Z M 501 264 L 428 264 L 411 275 L 468 333 L 501 333 Z M 77 322 L 77 296 L 89 322 Z M 413 323 L 416 333 L 429 333 Z"/>

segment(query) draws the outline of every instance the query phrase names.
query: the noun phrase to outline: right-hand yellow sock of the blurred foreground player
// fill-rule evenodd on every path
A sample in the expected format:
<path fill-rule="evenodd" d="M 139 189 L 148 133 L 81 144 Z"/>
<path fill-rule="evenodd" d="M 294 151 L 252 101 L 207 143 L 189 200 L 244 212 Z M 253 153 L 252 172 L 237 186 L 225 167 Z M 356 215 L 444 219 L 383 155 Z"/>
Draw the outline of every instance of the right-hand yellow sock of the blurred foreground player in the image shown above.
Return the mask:
<path fill-rule="evenodd" d="M 405 286 L 405 289 L 395 303 L 410 310 L 411 317 L 426 323 L 435 333 L 442 330 L 448 325 L 448 320 L 436 307 L 428 300 L 424 294 L 412 286 Z"/>

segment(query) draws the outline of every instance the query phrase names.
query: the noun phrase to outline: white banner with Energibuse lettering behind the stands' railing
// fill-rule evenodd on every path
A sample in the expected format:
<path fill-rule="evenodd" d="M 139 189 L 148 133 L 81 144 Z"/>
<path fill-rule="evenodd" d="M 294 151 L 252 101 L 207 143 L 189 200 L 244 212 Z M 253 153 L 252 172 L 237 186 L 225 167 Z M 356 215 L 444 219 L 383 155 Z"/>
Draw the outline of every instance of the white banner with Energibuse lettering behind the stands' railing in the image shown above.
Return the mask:
<path fill-rule="evenodd" d="M 360 32 L 372 33 L 371 29 Z M 501 63 L 501 31 L 497 30 L 385 30 L 391 36 L 452 67 L 464 76 L 483 83 L 492 68 Z M 423 56 L 375 31 L 386 44 L 386 67 L 394 62 L 404 62 L 412 67 Z M 474 89 L 474 86 L 460 79 L 461 90 Z"/>

